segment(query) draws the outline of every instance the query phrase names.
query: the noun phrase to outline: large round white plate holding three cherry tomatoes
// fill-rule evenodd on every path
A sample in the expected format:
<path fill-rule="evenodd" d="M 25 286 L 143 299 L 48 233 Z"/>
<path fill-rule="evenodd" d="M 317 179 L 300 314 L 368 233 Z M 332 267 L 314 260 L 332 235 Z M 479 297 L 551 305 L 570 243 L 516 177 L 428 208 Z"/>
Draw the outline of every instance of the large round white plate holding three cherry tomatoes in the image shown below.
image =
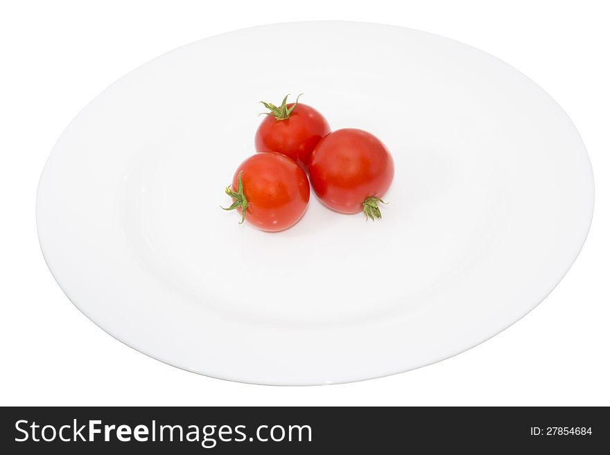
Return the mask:
<path fill-rule="evenodd" d="M 218 207 L 257 102 L 301 92 L 392 152 L 383 220 L 312 194 L 265 233 Z M 37 197 L 44 257 L 92 321 L 259 384 L 365 380 L 485 341 L 559 283 L 592 212 L 580 136 L 534 82 L 451 39 L 351 22 L 239 30 L 139 67 L 67 127 Z"/>

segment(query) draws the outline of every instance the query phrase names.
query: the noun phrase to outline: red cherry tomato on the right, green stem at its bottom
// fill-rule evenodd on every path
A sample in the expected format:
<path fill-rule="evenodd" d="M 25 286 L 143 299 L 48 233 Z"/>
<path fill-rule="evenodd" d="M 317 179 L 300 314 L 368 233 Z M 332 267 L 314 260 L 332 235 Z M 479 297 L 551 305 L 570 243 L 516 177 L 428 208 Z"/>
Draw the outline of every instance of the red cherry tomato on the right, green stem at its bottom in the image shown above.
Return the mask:
<path fill-rule="evenodd" d="M 346 128 L 324 136 L 309 163 L 317 197 L 342 213 L 364 211 L 381 218 L 377 206 L 394 179 L 394 160 L 385 145 L 363 130 Z"/>

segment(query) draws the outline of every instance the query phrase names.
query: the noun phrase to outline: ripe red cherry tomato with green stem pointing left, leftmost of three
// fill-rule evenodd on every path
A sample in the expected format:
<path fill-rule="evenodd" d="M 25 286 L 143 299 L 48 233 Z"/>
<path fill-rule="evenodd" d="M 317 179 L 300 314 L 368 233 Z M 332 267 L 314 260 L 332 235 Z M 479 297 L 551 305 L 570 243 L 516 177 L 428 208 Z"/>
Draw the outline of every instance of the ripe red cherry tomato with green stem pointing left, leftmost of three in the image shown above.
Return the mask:
<path fill-rule="evenodd" d="M 309 203 L 309 182 L 297 164 L 279 153 L 258 153 L 239 165 L 225 190 L 241 223 L 263 231 L 282 231 L 299 221 Z"/>

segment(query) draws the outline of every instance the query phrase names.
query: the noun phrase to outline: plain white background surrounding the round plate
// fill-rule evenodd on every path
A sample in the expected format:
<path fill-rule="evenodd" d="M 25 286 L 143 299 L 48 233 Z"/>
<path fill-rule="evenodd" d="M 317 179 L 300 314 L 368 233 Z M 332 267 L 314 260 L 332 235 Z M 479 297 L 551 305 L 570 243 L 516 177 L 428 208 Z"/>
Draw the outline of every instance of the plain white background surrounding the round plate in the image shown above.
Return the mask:
<path fill-rule="evenodd" d="M 610 14 L 603 1 L 0 5 L 1 405 L 610 405 Z M 161 53 L 238 28 L 315 19 L 451 37 L 546 89 L 580 131 L 595 172 L 595 215 L 580 257 L 541 305 L 498 336 L 379 380 L 237 384 L 173 368 L 116 341 L 71 305 L 40 253 L 35 194 L 53 144 L 107 85 Z M 245 71 L 276 71 L 283 57 L 272 53 L 272 44 L 261 49 L 260 68 Z"/>

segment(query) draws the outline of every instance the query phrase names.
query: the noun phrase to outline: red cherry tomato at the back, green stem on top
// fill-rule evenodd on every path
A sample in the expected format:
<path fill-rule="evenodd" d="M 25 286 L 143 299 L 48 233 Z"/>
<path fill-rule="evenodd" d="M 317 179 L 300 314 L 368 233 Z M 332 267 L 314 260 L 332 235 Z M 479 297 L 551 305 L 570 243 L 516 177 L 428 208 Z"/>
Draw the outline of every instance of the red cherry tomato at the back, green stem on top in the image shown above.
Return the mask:
<path fill-rule="evenodd" d="M 284 154 L 306 171 L 313 148 L 331 127 L 313 107 L 298 104 L 298 97 L 288 105 L 286 99 L 288 95 L 279 107 L 261 101 L 270 112 L 265 112 L 267 116 L 256 130 L 254 148 L 256 152 Z"/>

